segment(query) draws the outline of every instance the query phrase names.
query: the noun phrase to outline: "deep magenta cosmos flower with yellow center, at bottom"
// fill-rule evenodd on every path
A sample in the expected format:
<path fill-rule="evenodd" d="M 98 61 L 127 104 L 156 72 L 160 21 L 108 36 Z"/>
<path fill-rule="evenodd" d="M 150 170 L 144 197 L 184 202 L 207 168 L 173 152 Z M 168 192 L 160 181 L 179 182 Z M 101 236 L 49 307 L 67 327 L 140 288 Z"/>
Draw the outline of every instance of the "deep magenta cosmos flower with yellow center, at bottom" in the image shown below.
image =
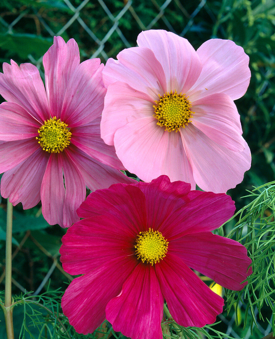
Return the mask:
<path fill-rule="evenodd" d="M 61 302 L 77 332 L 92 333 L 106 317 L 132 339 L 162 339 L 164 299 L 180 325 L 213 323 L 223 299 L 191 268 L 231 290 L 247 284 L 246 248 L 210 232 L 233 215 L 234 202 L 190 188 L 160 176 L 112 185 L 81 204 L 84 219 L 67 230 L 60 248 L 64 270 L 84 274 Z"/>

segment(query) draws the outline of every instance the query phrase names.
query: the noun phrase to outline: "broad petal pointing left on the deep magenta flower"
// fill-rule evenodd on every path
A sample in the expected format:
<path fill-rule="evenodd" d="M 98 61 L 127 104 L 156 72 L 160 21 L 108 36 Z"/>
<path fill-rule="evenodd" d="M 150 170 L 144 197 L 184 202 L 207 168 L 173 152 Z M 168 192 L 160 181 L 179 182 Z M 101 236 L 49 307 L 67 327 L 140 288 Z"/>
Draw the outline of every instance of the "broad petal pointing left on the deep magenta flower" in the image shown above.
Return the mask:
<path fill-rule="evenodd" d="M 139 260 L 133 239 L 138 232 L 129 221 L 121 223 L 114 216 L 85 218 L 68 228 L 62 238 L 60 261 L 69 274 L 85 274 L 105 262 L 126 259 Z"/>

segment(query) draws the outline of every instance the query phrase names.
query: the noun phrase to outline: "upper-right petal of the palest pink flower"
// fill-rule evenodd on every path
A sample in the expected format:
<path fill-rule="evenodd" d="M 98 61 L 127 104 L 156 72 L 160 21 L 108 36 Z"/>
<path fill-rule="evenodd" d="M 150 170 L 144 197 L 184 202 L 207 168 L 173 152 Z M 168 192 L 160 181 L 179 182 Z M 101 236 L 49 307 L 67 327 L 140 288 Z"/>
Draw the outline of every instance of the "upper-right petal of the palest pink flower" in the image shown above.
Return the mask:
<path fill-rule="evenodd" d="M 197 50 L 202 63 L 201 74 L 188 92 L 190 100 L 214 93 L 224 93 L 233 100 L 247 91 L 250 81 L 249 57 L 231 40 L 211 39 Z"/>

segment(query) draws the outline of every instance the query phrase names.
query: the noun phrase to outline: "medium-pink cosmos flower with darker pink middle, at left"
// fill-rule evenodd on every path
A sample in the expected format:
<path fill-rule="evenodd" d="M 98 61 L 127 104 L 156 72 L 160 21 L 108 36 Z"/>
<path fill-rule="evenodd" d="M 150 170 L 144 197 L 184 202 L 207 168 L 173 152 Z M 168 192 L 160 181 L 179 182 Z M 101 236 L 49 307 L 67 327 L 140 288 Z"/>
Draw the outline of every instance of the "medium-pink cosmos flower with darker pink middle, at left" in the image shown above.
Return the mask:
<path fill-rule="evenodd" d="M 129 182 L 114 147 L 100 138 L 104 65 L 79 62 L 75 40 L 55 37 L 43 57 L 46 90 L 32 64 L 11 60 L 0 73 L 7 100 L 0 105 L 1 195 L 25 209 L 41 198 L 47 222 L 63 227 L 79 220 L 85 185 L 94 191 Z"/>

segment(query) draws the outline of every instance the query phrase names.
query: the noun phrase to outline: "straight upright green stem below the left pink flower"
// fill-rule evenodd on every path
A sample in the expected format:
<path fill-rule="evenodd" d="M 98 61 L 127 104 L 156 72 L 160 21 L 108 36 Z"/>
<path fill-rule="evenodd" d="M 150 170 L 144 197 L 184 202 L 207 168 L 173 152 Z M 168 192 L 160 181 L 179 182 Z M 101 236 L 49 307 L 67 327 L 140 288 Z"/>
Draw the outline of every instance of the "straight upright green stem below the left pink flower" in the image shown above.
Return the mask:
<path fill-rule="evenodd" d="M 12 231 L 13 205 L 7 201 L 7 231 L 6 231 L 6 269 L 5 269 L 5 322 L 7 339 L 14 339 L 13 306 L 12 305 Z"/>

